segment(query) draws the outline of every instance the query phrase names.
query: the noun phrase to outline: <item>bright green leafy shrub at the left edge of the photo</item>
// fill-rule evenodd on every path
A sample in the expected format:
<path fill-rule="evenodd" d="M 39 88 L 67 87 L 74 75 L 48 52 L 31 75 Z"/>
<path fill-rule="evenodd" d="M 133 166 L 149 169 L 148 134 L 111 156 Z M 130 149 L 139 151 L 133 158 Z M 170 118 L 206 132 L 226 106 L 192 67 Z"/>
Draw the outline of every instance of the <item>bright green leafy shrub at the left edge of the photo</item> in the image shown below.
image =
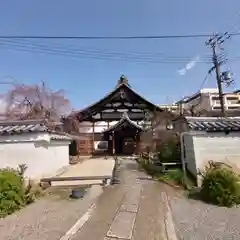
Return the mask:
<path fill-rule="evenodd" d="M 24 203 L 23 177 L 14 169 L 0 170 L 0 217 L 20 209 Z"/>

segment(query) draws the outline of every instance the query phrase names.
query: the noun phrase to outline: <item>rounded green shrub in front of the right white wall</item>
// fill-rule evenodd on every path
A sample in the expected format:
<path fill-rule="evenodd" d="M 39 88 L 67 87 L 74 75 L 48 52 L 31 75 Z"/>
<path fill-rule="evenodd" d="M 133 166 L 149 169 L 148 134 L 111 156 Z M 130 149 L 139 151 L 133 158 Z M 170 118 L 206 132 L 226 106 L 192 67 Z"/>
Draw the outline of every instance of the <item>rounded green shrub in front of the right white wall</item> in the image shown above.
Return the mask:
<path fill-rule="evenodd" d="M 239 177 L 231 169 L 209 163 L 202 176 L 200 196 L 203 200 L 227 207 L 240 203 Z"/>

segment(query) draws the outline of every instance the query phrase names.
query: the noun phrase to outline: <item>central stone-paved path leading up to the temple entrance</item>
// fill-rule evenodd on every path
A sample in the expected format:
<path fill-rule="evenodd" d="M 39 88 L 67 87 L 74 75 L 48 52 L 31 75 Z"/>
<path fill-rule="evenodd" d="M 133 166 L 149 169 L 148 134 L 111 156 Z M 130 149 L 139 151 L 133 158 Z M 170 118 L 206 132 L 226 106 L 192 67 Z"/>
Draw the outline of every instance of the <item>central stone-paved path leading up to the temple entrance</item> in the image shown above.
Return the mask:
<path fill-rule="evenodd" d="M 162 240 L 165 234 L 162 184 L 150 180 L 131 160 L 122 160 L 121 184 L 100 196 L 91 219 L 73 240 Z"/>

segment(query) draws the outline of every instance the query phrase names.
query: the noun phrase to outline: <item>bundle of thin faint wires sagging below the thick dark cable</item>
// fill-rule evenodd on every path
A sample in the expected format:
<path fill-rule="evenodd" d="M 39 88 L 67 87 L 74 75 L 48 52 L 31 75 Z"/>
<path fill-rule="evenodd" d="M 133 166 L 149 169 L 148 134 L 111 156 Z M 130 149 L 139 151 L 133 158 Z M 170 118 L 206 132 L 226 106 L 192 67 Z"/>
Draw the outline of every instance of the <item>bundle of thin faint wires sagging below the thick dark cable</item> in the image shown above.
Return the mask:
<path fill-rule="evenodd" d="M 116 61 L 133 61 L 145 63 L 181 63 L 186 64 L 192 60 L 191 56 L 169 56 L 164 53 L 141 53 L 141 52 L 111 52 L 103 49 L 87 49 L 81 47 L 69 47 L 65 44 L 42 44 L 36 43 L 34 40 L 28 41 L 23 39 L 0 39 L 0 49 L 10 49 L 16 51 L 24 51 L 29 53 L 42 53 L 55 56 L 65 56 L 74 58 L 94 58 L 103 60 Z M 218 59 L 221 61 L 226 55 L 220 54 Z M 228 61 L 239 61 L 240 56 L 234 56 Z M 201 56 L 198 63 L 212 63 L 212 56 L 205 54 Z"/>

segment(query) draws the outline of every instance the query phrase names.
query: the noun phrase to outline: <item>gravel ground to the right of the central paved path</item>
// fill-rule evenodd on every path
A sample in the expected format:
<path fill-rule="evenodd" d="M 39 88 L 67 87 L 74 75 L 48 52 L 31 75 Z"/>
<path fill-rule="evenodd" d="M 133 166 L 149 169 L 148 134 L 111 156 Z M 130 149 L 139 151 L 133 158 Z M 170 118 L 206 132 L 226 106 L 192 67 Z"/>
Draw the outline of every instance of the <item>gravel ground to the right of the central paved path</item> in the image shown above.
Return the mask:
<path fill-rule="evenodd" d="M 173 219 L 179 239 L 240 239 L 240 208 L 225 208 L 170 195 Z"/>

